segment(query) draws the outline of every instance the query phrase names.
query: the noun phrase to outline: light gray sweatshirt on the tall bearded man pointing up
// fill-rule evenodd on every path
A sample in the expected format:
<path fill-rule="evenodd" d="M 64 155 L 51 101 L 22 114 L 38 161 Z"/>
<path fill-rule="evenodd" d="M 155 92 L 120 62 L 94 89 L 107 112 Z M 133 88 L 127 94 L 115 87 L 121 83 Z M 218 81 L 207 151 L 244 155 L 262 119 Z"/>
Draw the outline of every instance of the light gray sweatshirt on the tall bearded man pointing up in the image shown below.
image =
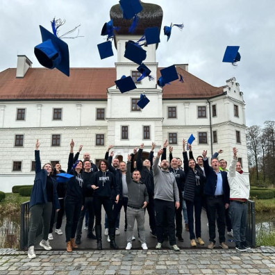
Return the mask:
<path fill-rule="evenodd" d="M 154 199 L 163 199 L 163 201 L 178 201 L 178 186 L 175 176 L 169 170 L 163 171 L 158 167 L 160 158 L 156 156 L 153 162 L 153 181 L 155 183 Z"/>

